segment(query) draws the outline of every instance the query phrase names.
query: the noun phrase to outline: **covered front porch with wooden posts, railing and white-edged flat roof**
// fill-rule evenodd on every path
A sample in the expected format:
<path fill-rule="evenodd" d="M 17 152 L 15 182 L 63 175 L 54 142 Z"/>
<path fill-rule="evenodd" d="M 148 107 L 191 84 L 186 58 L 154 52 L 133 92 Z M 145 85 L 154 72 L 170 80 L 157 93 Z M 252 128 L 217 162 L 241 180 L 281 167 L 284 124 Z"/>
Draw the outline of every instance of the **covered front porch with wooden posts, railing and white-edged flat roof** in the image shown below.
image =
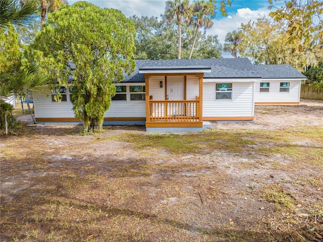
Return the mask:
<path fill-rule="evenodd" d="M 140 68 L 145 77 L 146 129 L 202 129 L 204 72 L 210 72 L 210 68 Z"/>

